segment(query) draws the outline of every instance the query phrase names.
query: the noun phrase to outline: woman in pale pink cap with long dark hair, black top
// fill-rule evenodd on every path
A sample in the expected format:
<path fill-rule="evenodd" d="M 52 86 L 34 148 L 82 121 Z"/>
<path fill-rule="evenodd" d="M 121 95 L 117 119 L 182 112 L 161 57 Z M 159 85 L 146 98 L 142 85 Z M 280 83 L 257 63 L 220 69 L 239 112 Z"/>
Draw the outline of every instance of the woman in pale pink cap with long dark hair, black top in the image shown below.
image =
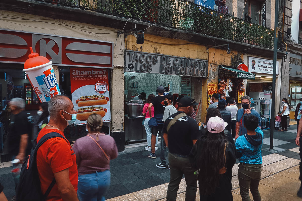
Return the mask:
<path fill-rule="evenodd" d="M 232 168 L 236 162 L 235 147 L 226 140 L 223 130 L 226 122 L 211 117 L 207 122 L 207 135 L 197 140 L 190 160 L 199 169 L 201 201 L 232 201 Z"/>

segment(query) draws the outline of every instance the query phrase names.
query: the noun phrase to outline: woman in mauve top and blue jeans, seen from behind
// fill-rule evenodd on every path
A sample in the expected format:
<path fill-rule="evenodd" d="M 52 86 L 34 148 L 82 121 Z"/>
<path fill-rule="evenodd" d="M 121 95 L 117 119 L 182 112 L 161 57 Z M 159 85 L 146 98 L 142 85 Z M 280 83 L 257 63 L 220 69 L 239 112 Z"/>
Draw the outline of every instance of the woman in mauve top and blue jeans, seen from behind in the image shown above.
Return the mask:
<path fill-rule="evenodd" d="M 117 158 L 114 139 L 102 133 L 101 115 L 88 117 L 88 134 L 72 146 L 78 165 L 78 196 L 81 201 L 104 201 L 110 186 L 110 160 Z"/>

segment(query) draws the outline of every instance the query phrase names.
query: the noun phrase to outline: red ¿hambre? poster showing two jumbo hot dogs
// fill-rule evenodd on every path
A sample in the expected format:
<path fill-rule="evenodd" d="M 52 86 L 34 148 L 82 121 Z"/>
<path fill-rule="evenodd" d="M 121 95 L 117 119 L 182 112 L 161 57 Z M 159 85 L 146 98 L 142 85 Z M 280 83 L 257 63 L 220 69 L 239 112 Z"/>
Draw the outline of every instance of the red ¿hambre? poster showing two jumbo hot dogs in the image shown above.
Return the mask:
<path fill-rule="evenodd" d="M 74 125 L 86 124 L 93 113 L 111 120 L 108 70 L 101 68 L 70 69 L 71 97 L 77 119 Z"/>

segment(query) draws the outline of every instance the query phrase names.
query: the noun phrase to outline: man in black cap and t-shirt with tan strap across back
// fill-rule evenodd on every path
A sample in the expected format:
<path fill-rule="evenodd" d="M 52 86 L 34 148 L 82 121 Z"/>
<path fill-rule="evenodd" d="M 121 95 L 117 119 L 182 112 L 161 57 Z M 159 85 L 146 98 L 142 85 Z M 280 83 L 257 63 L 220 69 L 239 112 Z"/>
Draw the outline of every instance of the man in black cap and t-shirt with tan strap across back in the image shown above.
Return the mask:
<path fill-rule="evenodd" d="M 196 198 L 197 174 L 195 174 L 195 170 L 188 158 L 199 133 L 196 121 L 188 117 L 192 114 L 193 105 L 198 105 L 198 103 L 189 97 L 180 99 L 178 112 L 169 116 L 163 127 L 165 143 L 169 147 L 168 158 L 170 164 L 170 183 L 167 191 L 167 201 L 176 200 L 179 183 L 182 180 L 183 174 L 185 174 L 187 184 L 185 200 L 195 201 Z"/>

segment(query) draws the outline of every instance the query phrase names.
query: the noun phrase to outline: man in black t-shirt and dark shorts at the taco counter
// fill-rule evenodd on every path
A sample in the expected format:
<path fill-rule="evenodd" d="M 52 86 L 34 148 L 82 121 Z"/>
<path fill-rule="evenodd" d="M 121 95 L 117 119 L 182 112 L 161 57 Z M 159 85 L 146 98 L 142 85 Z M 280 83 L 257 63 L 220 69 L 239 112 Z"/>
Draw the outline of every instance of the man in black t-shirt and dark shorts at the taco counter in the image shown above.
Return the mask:
<path fill-rule="evenodd" d="M 156 159 L 155 155 L 155 142 L 156 142 L 156 136 L 158 133 L 161 133 L 162 127 L 164 125 L 164 122 L 162 121 L 162 118 L 164 116 L 164 111 L 165 111 L 165 98 L 164 98 L 164 92 L 165 92 L 165 87 L 162 85 L 157 87 L 156 92 L 158 92 L 158 96 L 154 97 L 151 100 L 151 103 L 149 104 L 148 110 L 149 110 L 149 115 L 150 115 L 150 120 L 152 118 L 156 119 L 156 124 L 151 127 L 151 153 L 148 155 L 148 157 Z M 154 107 L 154 117 L 152 116 L 151 113 L 151 108 L 152 106 Z"/>

